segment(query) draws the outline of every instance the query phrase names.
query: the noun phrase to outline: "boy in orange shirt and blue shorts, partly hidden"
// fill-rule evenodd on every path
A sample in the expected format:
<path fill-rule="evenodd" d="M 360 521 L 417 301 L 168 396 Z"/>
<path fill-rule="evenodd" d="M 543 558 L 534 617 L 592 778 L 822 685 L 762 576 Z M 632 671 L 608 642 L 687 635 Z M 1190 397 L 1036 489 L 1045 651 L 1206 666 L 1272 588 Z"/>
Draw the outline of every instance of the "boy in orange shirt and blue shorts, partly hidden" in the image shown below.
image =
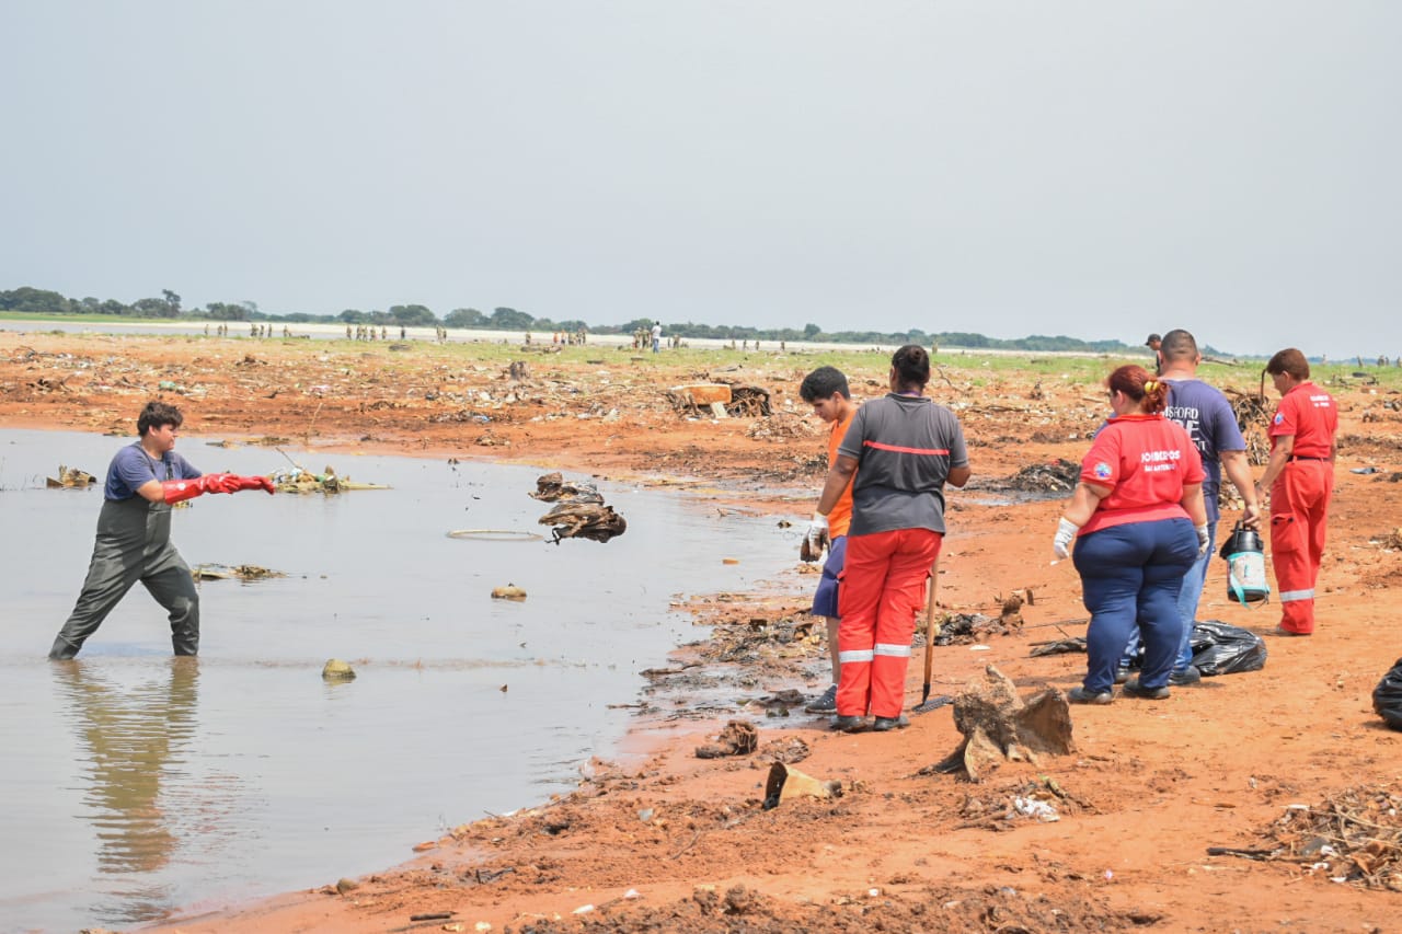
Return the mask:
<path fill-rule="evenodd" d="M 852 391 L 847 384 L 847 376 L 836 366 L 820 366 L 806 377 L 798 388 L 799 397 L 813 407 L 813 414 L 829 424 L 827 432 L 827 466 L 831 468 L 837 463 L 837 447 L 843 443 L 847 429 L 857 415 L 857 405 L 852 404 Z M 813 593 L 813 616 L 820 616 L 827 623 L 827 654 L 833 662 L 833 683 L 823 691 L 822 697 L 809 704 L 805 710 L 810 714 L 837 712 L 837 683 L 843 675 L 843 665 L 837 652 L 837 592 L 838 576 L 843 574 L 843 561 L 847 555 L 847 527 L 852 522 L 852 485 L 843 489 L 837 502 L 827 513 L 827 529 L 822 536 L 803 539 L 803 560 L 819 561 L 823 557 L 823 544 L 827 544 L 827 560 L 823 561 L 823 576 L 817 582 L 817 592 Z"/>

